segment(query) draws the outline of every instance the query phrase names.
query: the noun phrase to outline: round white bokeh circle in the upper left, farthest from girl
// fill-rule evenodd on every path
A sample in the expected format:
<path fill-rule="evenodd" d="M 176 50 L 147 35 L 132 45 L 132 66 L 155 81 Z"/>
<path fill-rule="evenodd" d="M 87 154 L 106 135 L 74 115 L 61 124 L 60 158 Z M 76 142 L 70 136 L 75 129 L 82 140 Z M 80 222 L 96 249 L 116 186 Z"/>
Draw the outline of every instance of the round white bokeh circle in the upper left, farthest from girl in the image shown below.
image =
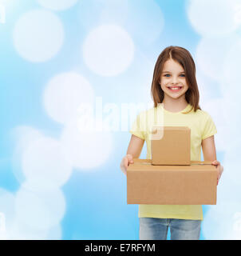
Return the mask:
<path fill-rule="evenodd" d="M 30 62 L 45 62 L 61 49 L 64 29 L 60 19 L 48 10 L 30 10 L 14 26 L 14 47 Z"/>

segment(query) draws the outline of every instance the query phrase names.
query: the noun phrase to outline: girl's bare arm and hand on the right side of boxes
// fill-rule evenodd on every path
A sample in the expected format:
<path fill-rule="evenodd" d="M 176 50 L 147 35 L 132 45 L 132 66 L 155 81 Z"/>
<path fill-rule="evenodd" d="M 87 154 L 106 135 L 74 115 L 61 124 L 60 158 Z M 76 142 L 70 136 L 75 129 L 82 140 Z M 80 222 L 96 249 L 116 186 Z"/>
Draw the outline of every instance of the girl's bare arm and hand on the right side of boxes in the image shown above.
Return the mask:
<path fill-rule="evenodd" d="M 214 135 L 211 137 L 205 138 L 202 141 L 202 148 L 203 148 L 203 158 L 204 161 L 212 161 L 211 164 L 215 165 L 218 170 L 218 184 L 221 175 L 223 174 L 223 166 L 221 166 L 220 162 L 216 160 L 216 149 L 215 149 L 215 142 L 214 142 Z"/>

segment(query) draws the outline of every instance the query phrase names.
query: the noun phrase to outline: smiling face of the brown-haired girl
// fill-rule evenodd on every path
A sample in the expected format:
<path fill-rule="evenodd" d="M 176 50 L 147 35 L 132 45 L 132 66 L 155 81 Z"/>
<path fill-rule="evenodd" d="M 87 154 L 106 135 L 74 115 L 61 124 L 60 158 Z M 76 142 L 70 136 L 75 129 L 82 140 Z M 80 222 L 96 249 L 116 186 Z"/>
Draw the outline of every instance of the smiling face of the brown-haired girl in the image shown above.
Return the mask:
<path fill-rule="evenodd" d="M 160 86 L 164 94 L 171 98 L 180 98 L 188 90 L 184 68 L 172 58 L 164 63 Z"/>

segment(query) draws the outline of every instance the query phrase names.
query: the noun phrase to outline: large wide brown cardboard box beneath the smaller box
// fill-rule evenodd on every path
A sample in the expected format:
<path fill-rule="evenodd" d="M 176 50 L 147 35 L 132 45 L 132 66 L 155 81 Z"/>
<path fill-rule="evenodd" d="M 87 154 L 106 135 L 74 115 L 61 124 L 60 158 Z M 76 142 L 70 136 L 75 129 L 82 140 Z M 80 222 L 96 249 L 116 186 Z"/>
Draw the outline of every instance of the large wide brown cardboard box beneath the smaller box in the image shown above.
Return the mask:
<path fill-rule="evenodd" d="M 128 204 L 216 204 L 217 170 L 211 162 L 153 166 L 151 159 L 133 161 L 127 169 Z"/>

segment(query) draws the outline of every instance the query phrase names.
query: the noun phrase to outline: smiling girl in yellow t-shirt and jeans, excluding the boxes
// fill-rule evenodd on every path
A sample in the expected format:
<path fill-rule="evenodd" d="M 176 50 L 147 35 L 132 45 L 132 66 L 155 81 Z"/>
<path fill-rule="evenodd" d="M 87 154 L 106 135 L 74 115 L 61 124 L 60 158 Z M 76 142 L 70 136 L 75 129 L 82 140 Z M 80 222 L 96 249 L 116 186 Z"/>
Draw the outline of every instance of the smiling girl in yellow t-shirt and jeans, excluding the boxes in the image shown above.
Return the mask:
<path fill-rule="evenodd" d="M 191 129 L 191 160 L 201 160 L 202 146 L 204 161 L 211 161 L 217 167 L 219 182 L 223 166 L 216 160 L 214 134 L 217 130 L 211 116 L 199 106 L 196 66 L 188 50 L 169 46 L 162 51 L 157 58 L 152 78 L 152 99 L 157 114 L 163 111 L 164 126 L 188 126 Z M 144 141 L 147 143 L 147 158 L 151 158 L 148 135 L 154 123 L 151 121 L 148 126 L 144 126 L 144 117 L 152 120 L 151 110 L 140 112 L 132 124 L 127 154 L 121 161 L 124 174 L 129 163 L 133 162 L 132 159 L 140 157 Z M 169 227 L 171 239 L 200 238 L 203 220 L 200 205 L 139 205 L 138 217 L 141 240 L 167 239 Z"/>

